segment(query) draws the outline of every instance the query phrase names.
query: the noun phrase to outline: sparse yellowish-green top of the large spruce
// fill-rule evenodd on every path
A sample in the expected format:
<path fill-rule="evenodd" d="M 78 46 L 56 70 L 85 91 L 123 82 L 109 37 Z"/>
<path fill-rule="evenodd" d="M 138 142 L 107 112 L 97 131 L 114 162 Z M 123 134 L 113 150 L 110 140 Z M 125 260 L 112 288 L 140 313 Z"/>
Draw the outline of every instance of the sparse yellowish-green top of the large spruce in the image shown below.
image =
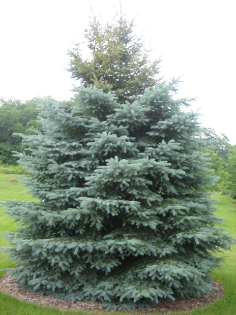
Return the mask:
<path fill-rule="evenodd" d="M 128 22 L 122 12 L 105 26 L 96 17 L 91 18 L 85 30 L 90 59 L 83 58 L 80 44 L 69 50 L 72 78 L 85 87 L 93 84 L 104 92 L 114 92 L 118 101 L 142 95 L 146 88 L 153 87 L 158 81 L 160 60 L 149 61 L 149 51 L 133 28 L 133 21 Z"/>

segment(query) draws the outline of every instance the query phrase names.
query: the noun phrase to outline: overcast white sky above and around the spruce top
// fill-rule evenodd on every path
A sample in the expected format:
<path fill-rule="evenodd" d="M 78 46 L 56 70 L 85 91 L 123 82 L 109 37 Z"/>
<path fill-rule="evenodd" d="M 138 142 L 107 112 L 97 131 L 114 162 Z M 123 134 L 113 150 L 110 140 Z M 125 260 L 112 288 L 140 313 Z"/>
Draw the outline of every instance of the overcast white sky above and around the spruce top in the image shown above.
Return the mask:
<path fill-rule="evenodd" d="M 104 22 L 119 0 L 0 0 L 0 97 L 69 99 L 67 49 L 83 41 L 91 8 Z M 135 32 L 162 58 L 165 79 L 197 96 L 200 121 L 236 144 L 236 1 L 123 0 Z"/>

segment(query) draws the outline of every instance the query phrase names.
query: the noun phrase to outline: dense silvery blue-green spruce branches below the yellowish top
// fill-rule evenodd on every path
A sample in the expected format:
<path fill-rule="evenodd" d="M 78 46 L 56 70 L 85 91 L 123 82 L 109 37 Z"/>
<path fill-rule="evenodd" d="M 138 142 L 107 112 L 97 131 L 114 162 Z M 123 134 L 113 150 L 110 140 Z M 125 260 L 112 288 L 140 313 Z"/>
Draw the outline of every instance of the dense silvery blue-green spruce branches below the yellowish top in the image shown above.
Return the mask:
<path fill-rule="evenodd" d="M 129 310 L 211 289 L 230 237 L 215 224 L 197 117 L 162 82 L 118 102 L 94 86 L 74 105 L 44 100 L 42 131 L 17 154 L 39 202 L 8 201 L 20 286 Z"/>

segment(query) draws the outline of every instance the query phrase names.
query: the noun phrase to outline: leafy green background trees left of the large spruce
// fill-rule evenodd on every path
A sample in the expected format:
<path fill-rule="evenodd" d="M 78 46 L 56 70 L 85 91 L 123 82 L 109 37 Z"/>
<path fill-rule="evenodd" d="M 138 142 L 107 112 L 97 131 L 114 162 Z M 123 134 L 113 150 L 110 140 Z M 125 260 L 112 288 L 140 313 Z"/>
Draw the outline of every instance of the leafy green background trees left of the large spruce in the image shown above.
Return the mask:
<path fill-rule="evenodd" d="M 37 99 L 27 102 L 20 100 L 0 100 L 0 162 L 16 164 L 12 151 L 22 151 L 21 138 L 14 133 L 30 133 L 29 128 L 39 129 L 36 121 Z"/>

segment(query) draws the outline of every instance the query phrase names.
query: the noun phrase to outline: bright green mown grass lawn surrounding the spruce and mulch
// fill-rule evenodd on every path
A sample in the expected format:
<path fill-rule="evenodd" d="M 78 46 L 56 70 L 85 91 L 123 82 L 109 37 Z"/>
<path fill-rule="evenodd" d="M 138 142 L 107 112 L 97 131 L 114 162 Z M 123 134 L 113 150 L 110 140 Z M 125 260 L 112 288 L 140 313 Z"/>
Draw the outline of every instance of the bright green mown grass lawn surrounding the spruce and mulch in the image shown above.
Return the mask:
<path fill-rule="evenodd" d="M 12 175 L 0 174 L 0 200 L 18 199 L 33 200 L 29 192 L 21 183 L 9 182 Z M 21 175 L 14 176 L 20 179 Z M 219 199 L 216 202 L 218 211 L 215 213 L 219 217 L 225 217 L 228 221 L 222 222 L 221 226 L 234 232 L 236 237 L 236 205 L 228 196 L 218 194 L 212 195 L 212 198 Z M 0 231 L 12 231 L 16 228 L 15 222 L 0 213 Z M 0 246 L 6 245 L 6 241 L 0 237 Z M 217 301 L 207 307 L 196 309 L 188 313 L 172 313 L 172 315 L 236 315 L 236 246 L 232 247 L 232 252 L 226 252 L 226 261 L 222 264 L 220 270 L 213 271 L 213 278 L 224 285 L 225 294 L 220 301 Z M 0 268 L 13 266 L 11 260 L 0 253 Z M 2 273 L 0 274 L 2 276 Z M 39 307 L 31 303 L 21 302 L 6 294 L 0 292 L 0 315 L 83 315 L 83 312 L 58 311 L 53 308 Z M 93 314 L 93 313 L 87 313 Z M 105 313 L 108 314 L 108 313 Z M 110 313 L 112 314 L 112 313 Z M 114 313 L 113 313 L 114 314 Z M 127 313 L 115 313 L 126 314 Z M 152 313 L 153 314 L 153 313 Z M 155 313 L 159 314 L 159 313 Z"/>

